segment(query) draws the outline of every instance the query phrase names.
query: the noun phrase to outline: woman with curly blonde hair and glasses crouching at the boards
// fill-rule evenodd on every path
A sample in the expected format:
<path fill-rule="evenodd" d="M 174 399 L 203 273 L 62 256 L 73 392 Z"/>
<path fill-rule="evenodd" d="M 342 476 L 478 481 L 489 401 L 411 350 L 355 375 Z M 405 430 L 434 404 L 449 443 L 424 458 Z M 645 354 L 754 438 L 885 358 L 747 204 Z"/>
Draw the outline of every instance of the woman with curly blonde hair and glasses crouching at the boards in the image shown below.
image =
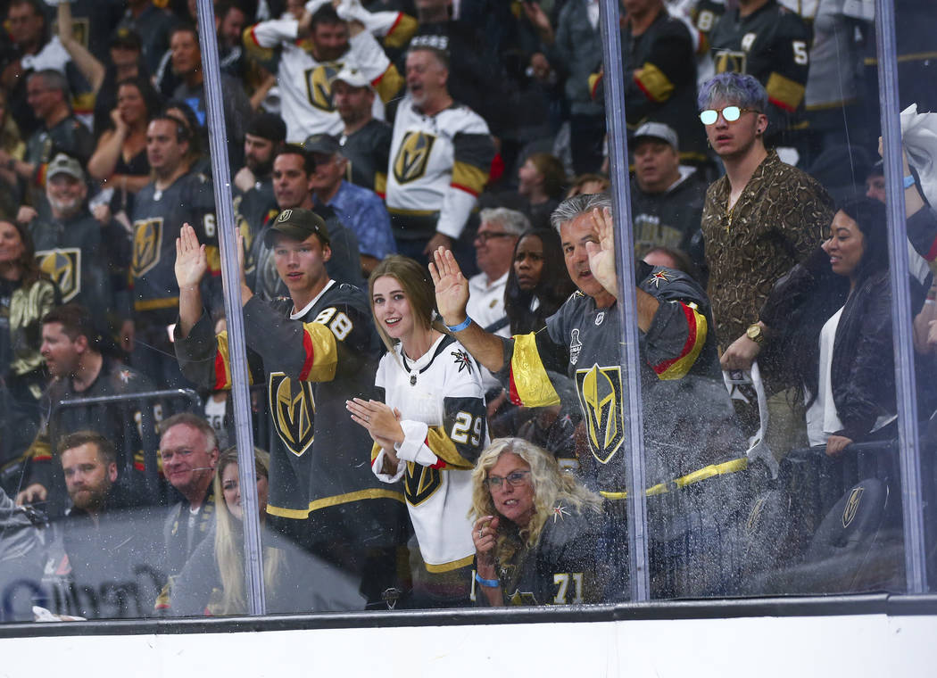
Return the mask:
<path fill-rule="evenodd" d="M 498 438 L 472 472 L 475 599 L 481 605 L 602 600 L 602 498 L 522 438 Z"/>

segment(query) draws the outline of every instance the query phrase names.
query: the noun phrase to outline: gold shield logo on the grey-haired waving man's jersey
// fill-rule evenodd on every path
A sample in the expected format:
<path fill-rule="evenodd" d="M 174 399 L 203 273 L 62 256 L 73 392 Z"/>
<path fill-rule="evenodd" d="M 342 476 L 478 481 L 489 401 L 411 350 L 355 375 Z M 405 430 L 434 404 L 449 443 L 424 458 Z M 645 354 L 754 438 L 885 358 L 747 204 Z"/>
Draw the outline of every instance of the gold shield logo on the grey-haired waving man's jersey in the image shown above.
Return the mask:
<path fill-rule="evenodd" d="M 576 392 L 586 415 L 592 456 L 600 464 L 608 464 L 625 440 L 621 368 L 592 365 L 577 370 Z"/>

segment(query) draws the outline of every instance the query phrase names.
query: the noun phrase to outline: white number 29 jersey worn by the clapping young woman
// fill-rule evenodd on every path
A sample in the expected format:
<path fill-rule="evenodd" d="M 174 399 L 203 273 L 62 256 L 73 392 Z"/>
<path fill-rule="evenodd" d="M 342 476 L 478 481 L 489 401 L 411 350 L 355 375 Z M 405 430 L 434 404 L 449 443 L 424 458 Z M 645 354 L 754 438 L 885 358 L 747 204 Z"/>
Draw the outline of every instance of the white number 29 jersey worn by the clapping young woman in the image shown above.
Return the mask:
<path fill-rule="evenodd" d="M 377 446 L 371 468 L 385 482 L 406 476 L 407 508 L 428 571 L 470 565 L 471 469 L 488 444 L 478 363 L 453 337 L 440 336 L 418 361 L 394 346 L 375 381 L 384 402 L 400 410 L 406 439 L 394 475 L 382 472 L 385 452 Z"/>

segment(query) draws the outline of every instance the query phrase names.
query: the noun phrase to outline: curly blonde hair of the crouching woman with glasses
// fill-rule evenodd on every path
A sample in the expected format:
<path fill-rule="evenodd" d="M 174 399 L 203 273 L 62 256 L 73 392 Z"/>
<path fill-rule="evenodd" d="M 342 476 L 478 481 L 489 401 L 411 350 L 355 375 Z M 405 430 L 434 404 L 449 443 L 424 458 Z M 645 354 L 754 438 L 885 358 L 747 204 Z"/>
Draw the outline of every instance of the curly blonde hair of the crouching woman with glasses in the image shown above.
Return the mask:
<path fill-rule="evenodd" d="M 543 527 L 554 515 L 553 509 L 558 503 L 580 511 L 602 511 L 602 498 L 589 492 L 573 474 L 560 469 L 557 460 L 548 451 L 524 438 L 496 438 L 482 452 L 471 473 L 472 506 L 468 515 L 472 520 L 498 515 L 491 491 L 484 481 L 488 479 L 488 472 L 498 464 L 498 458 L 508 452 L 516 454 L 530 466 L 534 514 L 527 527 L 516 532 L 510 529 L 510 525 L 504 524 L 508 523 L 507 519 L 502 519 L 495 544 L 498 563 L 510 562 L 518 548 L 536 547 L 543 534 Z"/>

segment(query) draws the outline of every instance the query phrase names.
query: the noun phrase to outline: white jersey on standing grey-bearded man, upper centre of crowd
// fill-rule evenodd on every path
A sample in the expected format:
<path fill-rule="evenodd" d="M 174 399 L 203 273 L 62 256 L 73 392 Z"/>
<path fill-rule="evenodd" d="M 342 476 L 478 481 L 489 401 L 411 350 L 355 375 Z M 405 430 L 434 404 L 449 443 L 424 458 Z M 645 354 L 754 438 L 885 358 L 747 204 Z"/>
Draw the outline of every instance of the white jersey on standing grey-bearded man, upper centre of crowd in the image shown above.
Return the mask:
<path fill-rule="evenodd" d="M 491 169 L 488 125 L 468 106 L 424 115 L 406 96 L 394 118 L 387 208 L 392 214 L 439 212 L 436 230 L 458 238 Z"/>

